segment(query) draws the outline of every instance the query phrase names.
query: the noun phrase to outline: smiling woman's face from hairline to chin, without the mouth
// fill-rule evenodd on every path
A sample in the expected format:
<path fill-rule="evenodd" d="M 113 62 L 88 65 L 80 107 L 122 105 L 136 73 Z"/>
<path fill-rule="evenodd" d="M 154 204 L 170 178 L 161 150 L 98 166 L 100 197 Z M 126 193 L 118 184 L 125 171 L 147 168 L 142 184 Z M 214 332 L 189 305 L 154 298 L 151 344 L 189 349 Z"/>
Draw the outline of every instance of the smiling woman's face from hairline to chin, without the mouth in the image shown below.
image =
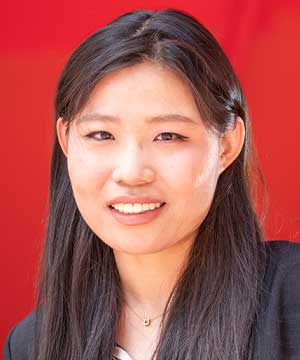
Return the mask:
<path fill-rule="evenodd" d="M 134 254 L 194 241 L 223 170 L 220 144 L 172 70 L 142 63 L 106 75 L 68 137 L 64 131 L 60 118 L 57 132 L 77 206 L 102 241 Z M 126 195 L 166 204 L 154 218 L 120 220 L 108 204 Z"/>

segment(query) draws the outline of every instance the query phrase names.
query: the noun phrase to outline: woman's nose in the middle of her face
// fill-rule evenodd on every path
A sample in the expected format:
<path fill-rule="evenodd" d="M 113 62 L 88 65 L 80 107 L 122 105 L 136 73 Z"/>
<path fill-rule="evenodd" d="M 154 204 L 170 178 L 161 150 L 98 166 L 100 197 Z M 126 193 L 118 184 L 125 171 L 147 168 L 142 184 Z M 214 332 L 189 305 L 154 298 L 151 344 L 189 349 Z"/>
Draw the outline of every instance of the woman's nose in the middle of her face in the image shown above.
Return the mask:
<path fill-rule="evenodd" d="M 146 165 L 141 146 L 128 145 L 118 156 L 113 180 L 127 185 L 141 185 L 154 180 L 154 171 Z"/>

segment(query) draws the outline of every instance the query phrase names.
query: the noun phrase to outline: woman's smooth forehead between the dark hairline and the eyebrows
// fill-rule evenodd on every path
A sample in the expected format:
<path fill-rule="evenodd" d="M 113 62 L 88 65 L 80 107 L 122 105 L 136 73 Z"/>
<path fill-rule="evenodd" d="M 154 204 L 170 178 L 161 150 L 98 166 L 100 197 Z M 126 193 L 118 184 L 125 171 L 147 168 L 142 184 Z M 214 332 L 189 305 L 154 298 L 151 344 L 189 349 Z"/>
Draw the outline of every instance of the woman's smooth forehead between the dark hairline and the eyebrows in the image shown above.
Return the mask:
<path fill-rule="evenodd" d="M 189 85 L 169 67 L 150 62 L 105 75 L 90 94 L 84 110 L 115 117 L 145 112 L 151 112 L 151 117 L 165 112 L 199 116 Z"/>

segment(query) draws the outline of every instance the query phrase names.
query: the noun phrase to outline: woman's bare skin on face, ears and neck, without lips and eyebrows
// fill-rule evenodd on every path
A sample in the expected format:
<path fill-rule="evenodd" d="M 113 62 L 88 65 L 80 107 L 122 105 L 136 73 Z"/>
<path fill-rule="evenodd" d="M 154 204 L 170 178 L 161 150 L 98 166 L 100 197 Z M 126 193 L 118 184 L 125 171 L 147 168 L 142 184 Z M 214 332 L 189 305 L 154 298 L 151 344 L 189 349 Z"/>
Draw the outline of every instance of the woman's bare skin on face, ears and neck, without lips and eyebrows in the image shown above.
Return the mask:
<path fill-rule="evenodd" d="M 80 121 L 95 112 L 120 122 Z M 171 113 L 194 123 L 146 122 Z M 211 206 L 218 177 L 241 151 L 242 119 L 237 117 L 226 136 L 217 136 L 204 126 L 188 85 L 171 69 L 145 62 L 106 75 L 71 123 L 70 133 L 66 135 L 61 118 L 56 129 L 78 208 L 113 249 L 126 302 L 140 317 L 161 314 Z M 86 138 L 92 131 L 108 133 Z M 187 139 L 161 134 L 165 132 Z M 167 205 L 150 223 L 123 225 L 106 205 L 118 195 L 154 196 Z M 119 343 L 142 359 L 144 345 L 157 336 L 158 321 L 147 328 L 125 306 L 123 319 Z"/>

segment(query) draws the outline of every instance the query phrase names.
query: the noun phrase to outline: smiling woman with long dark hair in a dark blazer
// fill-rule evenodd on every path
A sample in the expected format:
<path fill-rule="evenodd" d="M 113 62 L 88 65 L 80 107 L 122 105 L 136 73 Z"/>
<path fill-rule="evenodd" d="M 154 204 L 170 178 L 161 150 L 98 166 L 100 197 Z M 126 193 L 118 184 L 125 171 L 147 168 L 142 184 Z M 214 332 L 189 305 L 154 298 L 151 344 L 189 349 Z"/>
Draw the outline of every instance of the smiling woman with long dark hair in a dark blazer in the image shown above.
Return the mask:
<path fill-rule="evenodd" d="M 203 25 L 139 10 L 92 34 L 54 129 L 36 310 L 6 359 L 300 358 L 299 244 L 265 241 L 245 97 Z"/>

